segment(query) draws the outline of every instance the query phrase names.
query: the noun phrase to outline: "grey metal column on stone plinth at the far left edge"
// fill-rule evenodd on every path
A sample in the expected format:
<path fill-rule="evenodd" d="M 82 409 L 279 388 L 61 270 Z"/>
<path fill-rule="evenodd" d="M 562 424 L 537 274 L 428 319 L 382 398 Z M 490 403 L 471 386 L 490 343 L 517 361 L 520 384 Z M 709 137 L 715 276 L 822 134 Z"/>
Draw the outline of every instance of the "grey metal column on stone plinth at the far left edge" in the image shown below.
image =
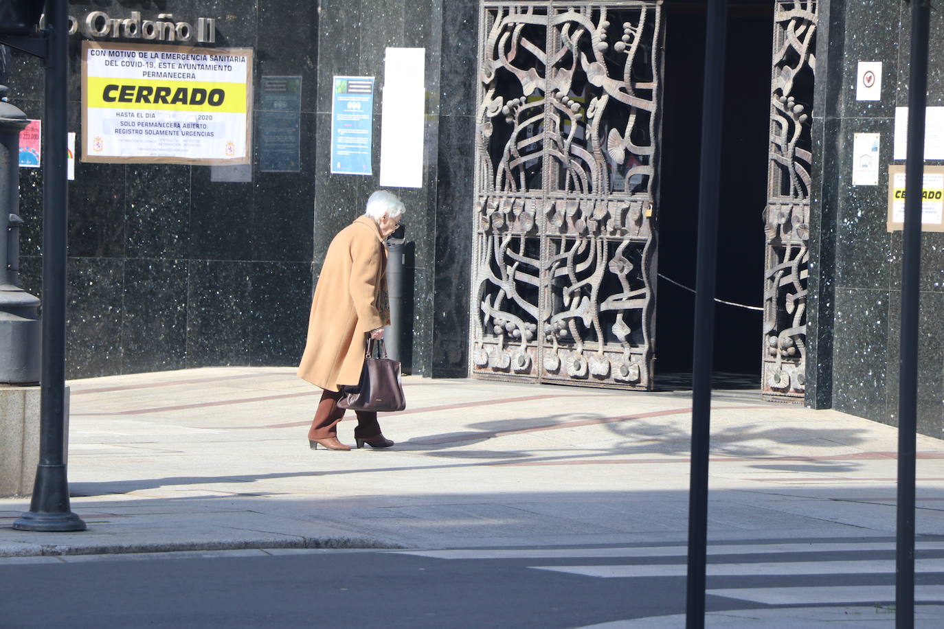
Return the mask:
<path fill-rule="evenodd" d="M 40 300 L 20 288 L 20 131 L 25 113 L 0 85 L 0 383 L 40 381 Z"/>

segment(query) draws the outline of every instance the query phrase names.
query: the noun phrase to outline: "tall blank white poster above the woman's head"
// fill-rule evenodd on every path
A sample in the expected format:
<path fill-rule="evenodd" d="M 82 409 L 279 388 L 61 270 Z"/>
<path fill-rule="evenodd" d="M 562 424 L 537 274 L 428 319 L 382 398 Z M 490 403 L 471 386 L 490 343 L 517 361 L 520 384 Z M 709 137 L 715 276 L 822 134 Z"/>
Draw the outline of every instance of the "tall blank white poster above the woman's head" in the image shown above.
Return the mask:
<path fill-rule="evenodd" d="M 380 119 L 380 185 L 423 187 L 426 49 L 387 48 Z"/>

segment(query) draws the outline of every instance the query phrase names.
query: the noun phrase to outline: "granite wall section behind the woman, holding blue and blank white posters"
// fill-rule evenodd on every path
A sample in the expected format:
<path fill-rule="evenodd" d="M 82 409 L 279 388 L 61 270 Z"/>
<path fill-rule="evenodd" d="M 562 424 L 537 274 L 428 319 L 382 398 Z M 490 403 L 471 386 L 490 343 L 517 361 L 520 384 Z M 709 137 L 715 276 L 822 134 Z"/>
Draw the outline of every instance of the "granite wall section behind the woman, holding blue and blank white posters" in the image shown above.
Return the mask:
<path fill-rule="evenodd" d="M 413 276 L 409 356 L 413 373 L 467 373 L 471 259 L 473 112 L 477 0 L 322 0 L 315 142 L 314 273 L 333 235 L 379 188 L 384 49 L 426 49 L 423 188 L 395 189 L 404 201 Z M 373 175 L 330 174 L 331 79 L 376 76 Z M 411 348 L 412 346 L 412 348 Z"/>

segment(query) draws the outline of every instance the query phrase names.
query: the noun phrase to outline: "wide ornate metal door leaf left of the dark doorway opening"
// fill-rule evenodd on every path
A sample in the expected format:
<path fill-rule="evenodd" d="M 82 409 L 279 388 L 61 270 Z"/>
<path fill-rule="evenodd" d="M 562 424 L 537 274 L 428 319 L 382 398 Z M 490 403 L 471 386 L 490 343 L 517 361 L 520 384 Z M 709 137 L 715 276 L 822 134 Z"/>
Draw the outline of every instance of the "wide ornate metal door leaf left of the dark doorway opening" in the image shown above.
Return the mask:
<path fill-rule="evenodd" d="M 650 389 L 660 3 L 480 10 L 472 372 Z"/>

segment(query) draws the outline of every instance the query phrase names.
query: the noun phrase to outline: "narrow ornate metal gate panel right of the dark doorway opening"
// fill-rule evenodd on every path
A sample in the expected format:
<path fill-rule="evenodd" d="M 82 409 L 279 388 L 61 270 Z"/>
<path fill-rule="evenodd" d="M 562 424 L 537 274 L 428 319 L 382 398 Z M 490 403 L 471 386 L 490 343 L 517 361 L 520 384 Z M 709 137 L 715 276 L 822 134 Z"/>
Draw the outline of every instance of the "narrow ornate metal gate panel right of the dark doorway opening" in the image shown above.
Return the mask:
<path fill-rule="evenodd" d="M 805 392 L 816 28 L 815 0 L 776 0 L 762 387 L 767 399 L 797 402 Z"/>

